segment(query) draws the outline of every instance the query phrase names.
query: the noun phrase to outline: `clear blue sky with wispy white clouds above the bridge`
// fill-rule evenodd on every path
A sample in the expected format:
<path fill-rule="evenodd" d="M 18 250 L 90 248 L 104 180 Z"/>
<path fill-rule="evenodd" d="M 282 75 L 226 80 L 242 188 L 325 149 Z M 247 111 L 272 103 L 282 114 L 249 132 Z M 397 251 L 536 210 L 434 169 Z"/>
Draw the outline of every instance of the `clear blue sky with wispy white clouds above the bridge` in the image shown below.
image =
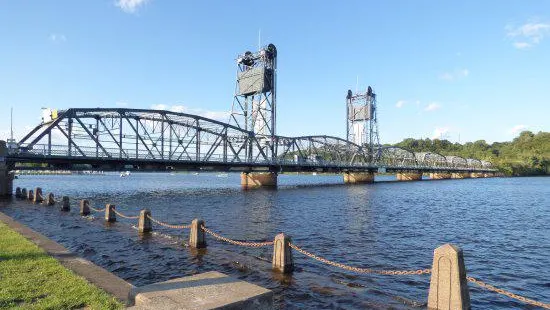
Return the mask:
<path fill-rule="evenodd" d="M 0 139 L 10 107 L 19 137 L 41 107 L 225 119 L 260 29 L 279 134 L 343 137 L 346 92 L 368 85 L 384 143 L 550 131 L 549 1 L 0 0 Z"/>

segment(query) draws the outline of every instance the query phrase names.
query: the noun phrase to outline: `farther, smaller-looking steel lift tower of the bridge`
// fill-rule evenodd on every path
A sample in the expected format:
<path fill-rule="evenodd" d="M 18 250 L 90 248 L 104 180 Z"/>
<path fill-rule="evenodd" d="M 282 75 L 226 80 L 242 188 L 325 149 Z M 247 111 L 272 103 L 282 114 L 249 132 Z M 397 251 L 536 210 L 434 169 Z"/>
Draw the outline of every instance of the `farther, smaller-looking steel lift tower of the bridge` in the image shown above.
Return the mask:
<path fill-rule="evenodd" d="M 380 138 L 376 120 L 376 94 L 370 86 L 366 93 L 354 95 L 348 90 L 346 123 L 347 140 L 362 146 L 367 151 L 369 160 L 375 158 Z"/>

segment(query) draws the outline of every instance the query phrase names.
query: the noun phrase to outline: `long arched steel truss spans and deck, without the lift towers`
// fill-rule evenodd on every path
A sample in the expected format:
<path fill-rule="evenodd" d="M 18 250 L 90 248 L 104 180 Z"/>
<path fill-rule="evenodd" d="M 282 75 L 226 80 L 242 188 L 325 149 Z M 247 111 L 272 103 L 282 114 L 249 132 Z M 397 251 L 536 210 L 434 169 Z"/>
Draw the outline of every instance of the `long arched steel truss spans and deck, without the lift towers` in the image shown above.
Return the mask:
<path fill-rule="evenodd" d="M 15 169 L 284 172 L 494 172 L 489 162 L 383 146 L 374 154 L 331 136 L 260 136 L 198 115 L 71 108 L 52 115 L 6 157 Z M 266 153 L 266 146 L 273 152 Z"/>

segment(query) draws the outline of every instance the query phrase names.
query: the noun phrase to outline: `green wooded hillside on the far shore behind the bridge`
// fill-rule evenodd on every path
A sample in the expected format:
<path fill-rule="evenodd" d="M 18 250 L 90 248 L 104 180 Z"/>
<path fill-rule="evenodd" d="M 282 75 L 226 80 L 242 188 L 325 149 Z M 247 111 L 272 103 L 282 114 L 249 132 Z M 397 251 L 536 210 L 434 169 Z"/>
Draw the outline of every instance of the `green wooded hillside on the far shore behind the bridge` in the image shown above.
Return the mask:
<path fill-rule="evenodd" d="M 550 175 L 550 132 L 534 134 L 523 131 L 510 142 L 492 144 L 485 140 L 460 144 L 440 139 L 408 138 L 395 146 L 413 152 L 434 152 L 490 161 L 501 172 L 511 176 Z"/>

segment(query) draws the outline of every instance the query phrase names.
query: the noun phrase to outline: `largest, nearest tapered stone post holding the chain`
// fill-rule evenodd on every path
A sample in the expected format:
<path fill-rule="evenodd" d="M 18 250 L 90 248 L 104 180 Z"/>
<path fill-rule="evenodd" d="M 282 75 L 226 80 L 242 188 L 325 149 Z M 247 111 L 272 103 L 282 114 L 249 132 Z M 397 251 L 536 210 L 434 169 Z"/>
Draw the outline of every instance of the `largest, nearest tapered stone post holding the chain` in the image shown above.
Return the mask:
<path fill-rule="evenodd" d="M 434 251 L 428 309 L 470 309 L 464 257 L 457 246 L 447 243 Z"/>

